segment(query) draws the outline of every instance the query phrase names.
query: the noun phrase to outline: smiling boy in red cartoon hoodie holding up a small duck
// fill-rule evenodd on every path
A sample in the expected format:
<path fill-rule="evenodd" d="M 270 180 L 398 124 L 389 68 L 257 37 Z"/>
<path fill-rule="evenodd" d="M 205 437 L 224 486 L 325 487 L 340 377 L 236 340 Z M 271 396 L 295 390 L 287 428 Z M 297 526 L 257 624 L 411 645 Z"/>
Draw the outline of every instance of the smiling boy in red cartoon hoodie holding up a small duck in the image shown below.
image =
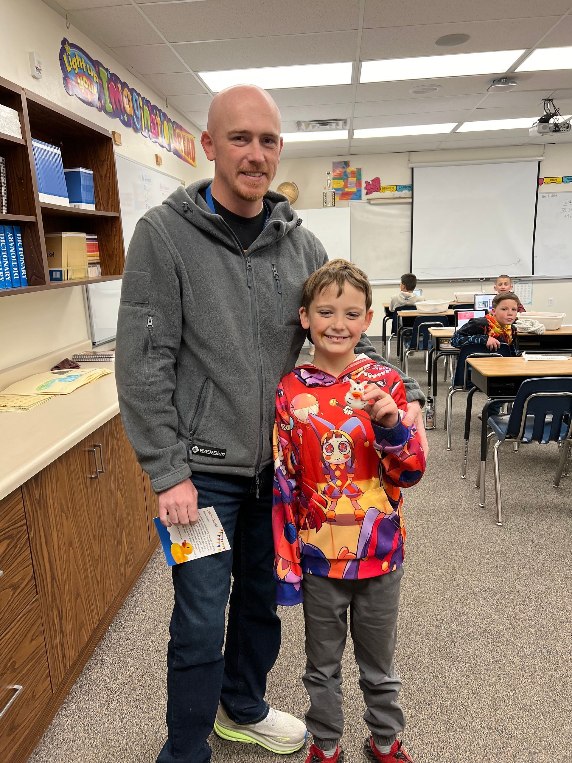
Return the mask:
<path fill-rule="evenodd" d="M 411 758 L 397 742 L 405 726 L 394 668 L 405 527 L 400 488 L 419 481 L 425 456 L 403 426 L 407 406 L 397 372 L 354 347 L 367 330 L 371 286 L 335 259 L 304 283 L 300 320 L 316 347 L 313 363 L 281 379 L 274 430 L 273 530 L 278 604 L 304 600 L 310 695 L 306 763 L 342 763 L 341 659 L 351 633 L 368 707 L 374 763 Z"/>

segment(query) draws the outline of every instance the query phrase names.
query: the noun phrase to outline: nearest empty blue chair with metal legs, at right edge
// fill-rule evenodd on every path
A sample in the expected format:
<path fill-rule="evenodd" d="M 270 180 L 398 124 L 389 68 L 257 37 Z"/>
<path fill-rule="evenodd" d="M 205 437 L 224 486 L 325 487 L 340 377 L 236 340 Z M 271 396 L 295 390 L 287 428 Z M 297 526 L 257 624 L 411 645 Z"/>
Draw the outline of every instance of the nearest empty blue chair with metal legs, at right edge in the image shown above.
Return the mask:
<path fill-rule="evenodd" d="M 513 398 L 499 398 L 513 400 Z M 491 429 L 487 437 L 487 450 L 490 441 L 496 437 L 493 447 L 494 492 L 496 498 L 496 524 L 503 524 L 503 507 L 500 499 L 499 448 L 512 440 L 516 443 L 558 443 L 560 459 L 554 477 L 554 488 L 558 488 L 572 446 L 572 378 L 570 376 L 552 376 L 526 379 L 519 387 L 513 401 L 513 410 L 509 416 L 490 416 L 488 425 Z M 484 477 L 480 475 L 481 504 L 484 504 Z"/>

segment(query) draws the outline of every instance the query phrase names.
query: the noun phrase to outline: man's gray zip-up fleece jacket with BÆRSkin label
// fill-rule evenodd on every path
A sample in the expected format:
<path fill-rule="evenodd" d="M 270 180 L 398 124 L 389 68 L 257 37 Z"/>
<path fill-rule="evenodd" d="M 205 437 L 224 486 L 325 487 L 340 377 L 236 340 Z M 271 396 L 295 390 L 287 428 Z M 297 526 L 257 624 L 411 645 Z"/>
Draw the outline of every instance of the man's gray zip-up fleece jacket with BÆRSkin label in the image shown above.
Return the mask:
<path fill-rule="evenodd" d="M 304 280 L 327 260 L 274 192 L 246 253 L 199 194 L 177 188 L 137 223 L 127 253 L 115 375 L 121 418 L 153 490 L 198 472 L 252 477 L 272 462 L 278 381 L 304 343 Z M 356 353 L 375 354 L 366 336 Z M 384 361 L 383 361 L 384 362 Z M 407 400 L 424 402 L 405 378 Z"/>

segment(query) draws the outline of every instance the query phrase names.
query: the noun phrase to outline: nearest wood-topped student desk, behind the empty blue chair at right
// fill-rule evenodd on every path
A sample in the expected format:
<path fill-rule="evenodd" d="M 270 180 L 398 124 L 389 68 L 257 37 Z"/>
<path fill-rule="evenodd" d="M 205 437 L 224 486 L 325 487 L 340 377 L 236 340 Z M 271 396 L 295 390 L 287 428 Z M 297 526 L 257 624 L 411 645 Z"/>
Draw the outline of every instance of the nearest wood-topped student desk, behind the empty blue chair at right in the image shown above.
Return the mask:
<path fill-rule="evenodd" d="M 544 336 L 544 335 L 542 335 Z M 523 358 L 469 358 L 472 366 L 471 381 L 488 398 L 516 397 L 522 381 L 542 376 L 572 376 L 572 358 L 569 360 L 525 360 Z M 465 459 L 468 445 L 467 420 L 471 420 L 472 394 L 467 400 L 465 417 Z M 480 505 L 484 505 L 484 472 L 487 463 L 488 400 L 483 407 L 480 423 Z"/>

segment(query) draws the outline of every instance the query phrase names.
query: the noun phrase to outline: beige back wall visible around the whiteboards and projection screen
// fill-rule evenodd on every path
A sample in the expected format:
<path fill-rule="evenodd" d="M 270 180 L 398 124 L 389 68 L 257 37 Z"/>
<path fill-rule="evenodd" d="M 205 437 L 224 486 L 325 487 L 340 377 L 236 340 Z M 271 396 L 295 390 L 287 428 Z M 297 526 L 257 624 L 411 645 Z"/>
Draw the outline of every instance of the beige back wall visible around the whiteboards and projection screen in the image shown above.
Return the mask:
<path fill-rule="evenodd" d="M 545 159 L 541 162 L 541 177 L 559 177 L 572 175 L 572 143 L 564 143 L 561 146 L 509 146 L 491 149 L 471 150 L 447 150 L 439 152 L 423 151 L 419 153 L 374 153 L 351 157 L 321 156 L 317 159 L 283 159 L 278 166 L 278 172 L 272 188 L 276 188 L 281 182 L 290 180 L 296 183 L 299 195 L 294 209 L 314 209 L 322 206 L 323 185 L 326 182 L 326 171 L 332 169 L 332 162 L 344 158 L 351 159 L 352 167 L 362 168 L 362 180 L 371 180 L 374 177 L 381 179 L 381 185 L 400 185 L 411 182 L 410 160 L 419 162 L 439 161 L 470 161 L 471 159 L 509 159 L 511 157 L 541 156 Z M 570 186 L 567 186 L 570 188 Z M 550 189 L 557 189 L 551 185 Z M 380 196 L 376 194 L 376 196 Z M 347 201 L 339 203 L 347 206 Z M 571 263 L 572 264 L 572 263 Z M 435 282 L 423 283 L 423 296 L 428 299 L 453 298 L 455 290 L 488 291 L 491 282 Z M 391 295 L 397 291 L 396 286 L 378 285 L 374 291 L 374 320 L 371 323 L 369 333 L 371 336 L 380 336 L 382 317 L 384 315 L 383 303 L 390 300 Z M 491 289 L 491 293 L 492 293 Z M 554 297 L 554 307 L 548 307 L 548 298 Z M 562 312 L 567 314 L 564 323 L 572 324 L 572 279 L 535 281 L 532 289 L 532 309 L 536 311 Z"/>

